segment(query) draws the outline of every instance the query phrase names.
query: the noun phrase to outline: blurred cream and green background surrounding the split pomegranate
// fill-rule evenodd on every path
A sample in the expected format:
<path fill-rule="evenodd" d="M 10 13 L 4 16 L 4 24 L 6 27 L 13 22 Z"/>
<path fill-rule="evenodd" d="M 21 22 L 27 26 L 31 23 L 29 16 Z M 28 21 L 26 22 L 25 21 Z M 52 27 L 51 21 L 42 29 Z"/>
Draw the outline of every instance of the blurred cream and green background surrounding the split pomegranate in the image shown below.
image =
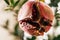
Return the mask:
<path fill-rule="evenodd" d="M 60 40 L 60 0 L 40 0 L 55 15 L 53 26 L 43 36 L 31 36 L 19 28 L 18 11 L 28 0 L 0 0 L 0 40 Z"/>

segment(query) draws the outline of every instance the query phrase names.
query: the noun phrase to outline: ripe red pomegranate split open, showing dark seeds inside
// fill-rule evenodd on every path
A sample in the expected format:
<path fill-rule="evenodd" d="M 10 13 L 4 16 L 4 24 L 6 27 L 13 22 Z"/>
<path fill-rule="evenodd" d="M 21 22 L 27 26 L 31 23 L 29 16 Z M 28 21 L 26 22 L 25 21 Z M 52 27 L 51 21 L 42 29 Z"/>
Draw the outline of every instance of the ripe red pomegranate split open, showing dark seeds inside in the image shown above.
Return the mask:
<path fill-rule="evenodd" d="M 31 35 L 39 36 L 52 26 L 53 12 L 43 2 L 27 1 L 19 11 L 20 28 Z"/>

